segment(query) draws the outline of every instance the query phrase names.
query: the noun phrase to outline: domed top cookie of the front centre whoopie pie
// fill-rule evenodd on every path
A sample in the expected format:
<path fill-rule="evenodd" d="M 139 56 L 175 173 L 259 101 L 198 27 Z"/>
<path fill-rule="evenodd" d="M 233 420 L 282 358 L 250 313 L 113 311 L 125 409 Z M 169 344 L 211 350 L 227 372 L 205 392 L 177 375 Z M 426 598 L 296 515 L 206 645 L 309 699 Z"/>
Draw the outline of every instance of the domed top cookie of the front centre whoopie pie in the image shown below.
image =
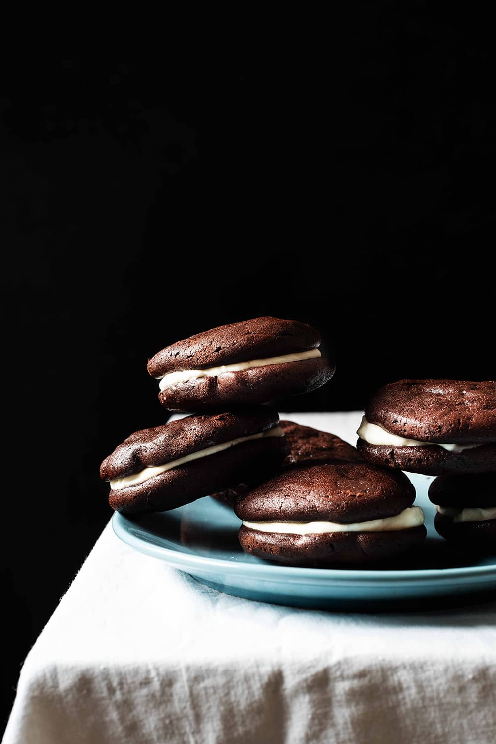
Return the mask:
<path fill-rule="evenodd" d="M 415 489 L 399 470 L 342 462 L 286 470 L 240 498 L 247 522 L 368 522 L 399 514 Z"/>

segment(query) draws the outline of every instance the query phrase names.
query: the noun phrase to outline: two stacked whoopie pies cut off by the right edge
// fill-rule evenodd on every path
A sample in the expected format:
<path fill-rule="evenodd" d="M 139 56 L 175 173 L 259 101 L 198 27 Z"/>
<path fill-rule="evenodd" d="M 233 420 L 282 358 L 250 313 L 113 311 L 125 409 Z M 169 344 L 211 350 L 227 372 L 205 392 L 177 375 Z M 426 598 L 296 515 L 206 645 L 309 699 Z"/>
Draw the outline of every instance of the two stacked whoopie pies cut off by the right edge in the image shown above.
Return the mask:
<path fill-rule="evenodd" d="M 496 382 L 406 379 L 365 406 L 362 458 L 437 475 L 434 525 L 457 547 L 496 550 Z"/>

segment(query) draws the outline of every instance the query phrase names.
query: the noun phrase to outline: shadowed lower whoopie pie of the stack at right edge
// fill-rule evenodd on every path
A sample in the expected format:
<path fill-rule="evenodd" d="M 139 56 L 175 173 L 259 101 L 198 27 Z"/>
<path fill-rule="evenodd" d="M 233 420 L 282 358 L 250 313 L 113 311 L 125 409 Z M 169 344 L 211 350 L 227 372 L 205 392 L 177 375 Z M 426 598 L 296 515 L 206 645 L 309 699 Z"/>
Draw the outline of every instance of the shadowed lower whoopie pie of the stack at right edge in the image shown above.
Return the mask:
<path fill-rule="evenodd" d="M 440 476 L 428 496 L 436 504 L 434 527 L 458 547 L 496 554 L 496 472 Z"/>

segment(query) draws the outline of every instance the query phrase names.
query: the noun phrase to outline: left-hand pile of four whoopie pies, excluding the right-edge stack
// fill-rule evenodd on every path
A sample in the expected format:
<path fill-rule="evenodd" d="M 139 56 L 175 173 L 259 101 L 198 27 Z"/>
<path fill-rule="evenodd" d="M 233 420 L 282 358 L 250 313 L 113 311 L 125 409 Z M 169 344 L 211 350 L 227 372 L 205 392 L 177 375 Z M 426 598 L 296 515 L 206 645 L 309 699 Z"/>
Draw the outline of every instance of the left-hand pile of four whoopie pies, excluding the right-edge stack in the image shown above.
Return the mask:
<path fill-rule="evenodd" d="M 160 350 L 148 363 L 160 403 L 192 415 L 134 432 L 105 459 L 111 507 L 139 514 L 212 494 L 235 506 L 245 551 L 294 565 L 368 562 L 420 544 L 423 513 L 402 472 L 267 405 L 331 379 L 320 342 L 306 324 L 255 318 Z"/>

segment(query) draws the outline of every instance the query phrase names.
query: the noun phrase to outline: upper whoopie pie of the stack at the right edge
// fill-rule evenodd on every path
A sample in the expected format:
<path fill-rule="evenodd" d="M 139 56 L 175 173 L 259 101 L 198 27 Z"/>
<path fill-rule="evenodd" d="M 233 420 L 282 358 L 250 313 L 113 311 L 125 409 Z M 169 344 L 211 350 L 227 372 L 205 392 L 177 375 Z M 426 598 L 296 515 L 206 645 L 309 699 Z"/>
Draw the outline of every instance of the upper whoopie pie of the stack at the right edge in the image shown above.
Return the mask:
<path fill-rule="evenodd" d="M 496 382 L 401 380 L 365 406 L 356 449 L 425 475 L 496 471 Z"/>

